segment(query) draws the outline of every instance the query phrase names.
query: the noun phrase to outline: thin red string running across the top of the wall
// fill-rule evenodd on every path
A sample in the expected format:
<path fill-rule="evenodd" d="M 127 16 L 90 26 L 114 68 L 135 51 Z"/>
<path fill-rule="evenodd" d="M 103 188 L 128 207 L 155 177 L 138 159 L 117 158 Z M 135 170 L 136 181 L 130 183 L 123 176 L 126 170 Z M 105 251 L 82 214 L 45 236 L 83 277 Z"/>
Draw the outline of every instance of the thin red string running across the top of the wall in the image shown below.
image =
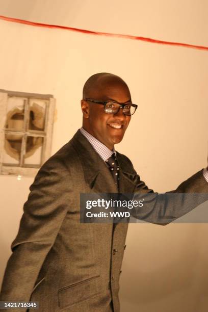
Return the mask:
<path fill-rule="evenodd" d="M 96 32 L 96 31 L 89 31 L 85 29 L 79 29 L 79 28 L 73 28 L 73 27 L 67 27 L 67 26 L 61 26 L 61 25 L 52 25 L 52 24 L 44 24 L 44 23 L 38 23 L 38 22 L 32 22 L 29 20 L 19 19 L 19 18 L 12 18 L 0 15 L 0 19 L 30 25 L 30 26 L 36 26 L 36 27 L 44 27 L 44 28 L 55 28 L 55 29 L 63 29 L 73 32 L 79 32 L 84 34 L 90 34 L 90 35 L 96 35 L 96 36 L 107 36 L 107 37 L 117 37 L 117 38 L 124 38 L 124 39 L 132 39 L 132 40 L 140 40 L 140 41 L 146 41 L 150 43 L 158 43 L 158 44 L 166 44 L 166 45 L 172 45 L 172 46 L 183 46 L 187 48 L 194 48 L 198 50 L 206 50 L 208 51 L 208 46 L 203 45 L 194 45 L 194 44 L 188 44 L 188 43 L 182 43 L 182 42 L 171 42 L 171 41 L 164 41 L 164 40 L 157 40 L 152 38 L 146 38 L 141 36 L 132 36 L 132 35 L 122 35 L 122 34 L 114 34 L 114 33 L 102 33 L 102 32 Z"/>

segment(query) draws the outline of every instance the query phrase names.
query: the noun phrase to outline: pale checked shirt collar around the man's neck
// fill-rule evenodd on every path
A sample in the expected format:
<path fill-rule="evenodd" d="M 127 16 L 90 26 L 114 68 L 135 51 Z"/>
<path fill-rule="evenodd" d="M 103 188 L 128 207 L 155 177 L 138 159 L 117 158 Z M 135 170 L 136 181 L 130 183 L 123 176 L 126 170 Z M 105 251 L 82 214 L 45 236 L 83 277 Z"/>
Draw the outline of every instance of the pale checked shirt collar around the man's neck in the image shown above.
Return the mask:
<path fill-rule="evenodd" d="M 89 132 L 87 132 L 83 127 L 80 128 L 80 132 L 89 141 L 89 143 L 92 145 L 92 147 L 99 154 L 99 156 L 101 157 L 103 161 L 106 162 L 107 159 L 109 159 L 109 157 L 111 157 L 113 153 L 116 154 L 116 151 L 114 148 L 113 150 L 109 149 L 106 145 L 101 143 L 99 140 L 93 137 Z"/>

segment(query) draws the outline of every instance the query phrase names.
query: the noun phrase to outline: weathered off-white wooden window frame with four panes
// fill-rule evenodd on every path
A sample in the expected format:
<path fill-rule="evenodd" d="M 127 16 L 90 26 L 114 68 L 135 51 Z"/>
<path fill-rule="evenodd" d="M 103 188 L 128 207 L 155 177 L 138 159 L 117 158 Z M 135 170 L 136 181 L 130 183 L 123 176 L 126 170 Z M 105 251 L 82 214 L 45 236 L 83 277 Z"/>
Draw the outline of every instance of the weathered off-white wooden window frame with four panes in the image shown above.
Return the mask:
<path fill-rule="evenodd" d="M 7 105 L 8 99 L 10 97 L 24 98 L 24 129 L 22 131 L 9 130 L 5 127 L 7 118 Z M 46 100 L 44 131 L 29 129 L 29 119 L 30 119 L 29 103 L 31 99 Z M 0 174 L 7 175 L 12 174 L 22 176 L 36 175 L 41 165 L 51 155 L 55 104 L 56 100 L 53 97 L 53 95 L 50 94 L 26 93 L 0 89 Z M 16 164 L 3 163 L 3 153 L 5 152 L 4 146 L 6 134 L 22 135 L 20 162 L 18 166 Z M 40 165 L 24 164 L 24 155 L 28 136 L 43 138 Z"/>

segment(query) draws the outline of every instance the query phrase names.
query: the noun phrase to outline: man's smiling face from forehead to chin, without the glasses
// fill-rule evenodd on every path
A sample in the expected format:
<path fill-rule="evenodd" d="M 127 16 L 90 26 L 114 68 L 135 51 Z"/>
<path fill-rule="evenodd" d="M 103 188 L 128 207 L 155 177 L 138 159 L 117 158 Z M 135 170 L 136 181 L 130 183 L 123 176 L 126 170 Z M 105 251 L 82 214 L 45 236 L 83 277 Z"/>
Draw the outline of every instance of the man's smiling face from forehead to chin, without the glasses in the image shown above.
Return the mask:
<path fill-rule="evenodd" d="M 95 91 L 92 99 L 99 101 L 114 100 L 120 103 L 131 103 L 128 88 L 120 83 L 107 83 L 101 90 Z M 122 109 L 117 114 L 107 114 L 104 106 L 89 101 L 81 101 L 84 113 L 84 128 L 108 148 L 121 142 L 131 116 L 123 114 Z M 84 112 L 87 110 L 87 113 Z"/>

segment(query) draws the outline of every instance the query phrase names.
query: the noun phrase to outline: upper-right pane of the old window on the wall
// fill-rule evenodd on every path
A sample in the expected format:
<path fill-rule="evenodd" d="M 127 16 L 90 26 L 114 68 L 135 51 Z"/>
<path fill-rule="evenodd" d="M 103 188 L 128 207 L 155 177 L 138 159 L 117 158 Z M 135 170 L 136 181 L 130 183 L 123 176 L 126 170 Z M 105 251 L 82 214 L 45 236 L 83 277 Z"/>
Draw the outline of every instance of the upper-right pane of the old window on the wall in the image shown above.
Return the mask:
<path fill-rule="evenodd" d="M 44 131 L 47 100 L 31 98 L 29 101 L 29 130 Z"/>

